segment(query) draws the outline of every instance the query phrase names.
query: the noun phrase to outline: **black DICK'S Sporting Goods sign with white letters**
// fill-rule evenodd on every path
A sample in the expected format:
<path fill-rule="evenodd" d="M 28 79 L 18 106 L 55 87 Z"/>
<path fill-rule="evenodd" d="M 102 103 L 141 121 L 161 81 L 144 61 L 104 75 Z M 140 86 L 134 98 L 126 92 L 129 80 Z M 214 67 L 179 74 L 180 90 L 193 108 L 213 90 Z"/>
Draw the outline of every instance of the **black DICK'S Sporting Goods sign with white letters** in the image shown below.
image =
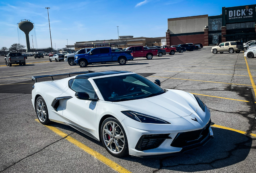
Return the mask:
<path fill-rule="evenodd" d="M 255 21 L 255 5 L 226 8 L 226 23 Z"/>

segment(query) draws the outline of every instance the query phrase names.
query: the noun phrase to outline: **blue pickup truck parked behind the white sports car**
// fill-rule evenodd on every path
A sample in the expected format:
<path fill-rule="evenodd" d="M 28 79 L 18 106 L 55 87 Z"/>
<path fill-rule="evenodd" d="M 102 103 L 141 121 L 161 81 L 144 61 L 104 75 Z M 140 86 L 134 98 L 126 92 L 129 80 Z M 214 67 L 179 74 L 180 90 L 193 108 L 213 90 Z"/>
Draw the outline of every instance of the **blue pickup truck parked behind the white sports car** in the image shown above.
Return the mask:
<path fill-rule="evenodd" d="M 120 65 L 124 65 L 128 60 L 133 59 L 131 52 L 112 52 L 111 47 L 93 48 L 86 54 L 75 55 L 74 63 L 80 67 L 86 67 L 88 64 L 97 62 L 118 62 Z"/>

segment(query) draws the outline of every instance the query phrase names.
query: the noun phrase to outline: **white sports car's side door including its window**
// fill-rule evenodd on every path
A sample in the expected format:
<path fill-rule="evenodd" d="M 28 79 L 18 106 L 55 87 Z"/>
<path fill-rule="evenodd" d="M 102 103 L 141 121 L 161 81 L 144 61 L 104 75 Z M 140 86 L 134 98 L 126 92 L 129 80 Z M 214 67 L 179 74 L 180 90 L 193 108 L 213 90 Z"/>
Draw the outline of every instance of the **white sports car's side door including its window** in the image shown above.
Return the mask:
<path fill-rule="evenodd" d="M 98 102 L 78 99 L 75 96 L 76 92 L 85 92 L 89 94 L 92 99 L 98 98 L 89 80 L 85 78 L 71 79 L 69 81 L 68 90 L 60 96 L 72 97 L 66 101 L 66 107 L 62 111 L 62 116 L 68 119 L 68 123 L 70 123 L 72 127 L 75 126 L 75 129 L 83 129 L 83 132 L 86 131 L 87 133 L 97 136 L 96 111 Z"/>

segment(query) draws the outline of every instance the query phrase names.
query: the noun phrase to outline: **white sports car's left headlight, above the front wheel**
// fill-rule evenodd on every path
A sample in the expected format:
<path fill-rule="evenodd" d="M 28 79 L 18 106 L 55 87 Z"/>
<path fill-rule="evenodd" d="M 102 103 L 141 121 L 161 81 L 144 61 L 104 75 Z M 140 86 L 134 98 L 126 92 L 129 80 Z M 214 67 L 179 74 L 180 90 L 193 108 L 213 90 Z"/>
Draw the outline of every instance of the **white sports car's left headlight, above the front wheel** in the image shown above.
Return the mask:
<path fill-rule="evenodd" d="M 127 117 L 130 117 L 131 119 L 134 119 L 135 121 L 138 121 L 141 123 L 171 124 L 157 117 L 153 117 L 150 115 L 146 115 L 146 114 L 142 114 L 134 111 L 121 111 L 121 112 Z"/>

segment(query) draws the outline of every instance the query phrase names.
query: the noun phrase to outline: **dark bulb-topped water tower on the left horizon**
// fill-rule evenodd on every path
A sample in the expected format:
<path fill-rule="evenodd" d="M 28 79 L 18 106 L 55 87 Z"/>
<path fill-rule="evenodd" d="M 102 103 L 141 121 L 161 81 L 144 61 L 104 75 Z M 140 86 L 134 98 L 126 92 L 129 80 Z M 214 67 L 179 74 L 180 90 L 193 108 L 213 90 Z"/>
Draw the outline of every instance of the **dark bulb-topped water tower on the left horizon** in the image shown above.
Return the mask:
<path fill-rule="evenodd" d="M 34 25 L 30 20 L 24 19 L 19 22 L 19 28 L 25 33 L 26 35 L 26 42 L 27 42 L 27 50 L 26 52 L 32 52 L 30 49 L 30 43 L 29 43 L 29 32 L 33 30 Z"/>

